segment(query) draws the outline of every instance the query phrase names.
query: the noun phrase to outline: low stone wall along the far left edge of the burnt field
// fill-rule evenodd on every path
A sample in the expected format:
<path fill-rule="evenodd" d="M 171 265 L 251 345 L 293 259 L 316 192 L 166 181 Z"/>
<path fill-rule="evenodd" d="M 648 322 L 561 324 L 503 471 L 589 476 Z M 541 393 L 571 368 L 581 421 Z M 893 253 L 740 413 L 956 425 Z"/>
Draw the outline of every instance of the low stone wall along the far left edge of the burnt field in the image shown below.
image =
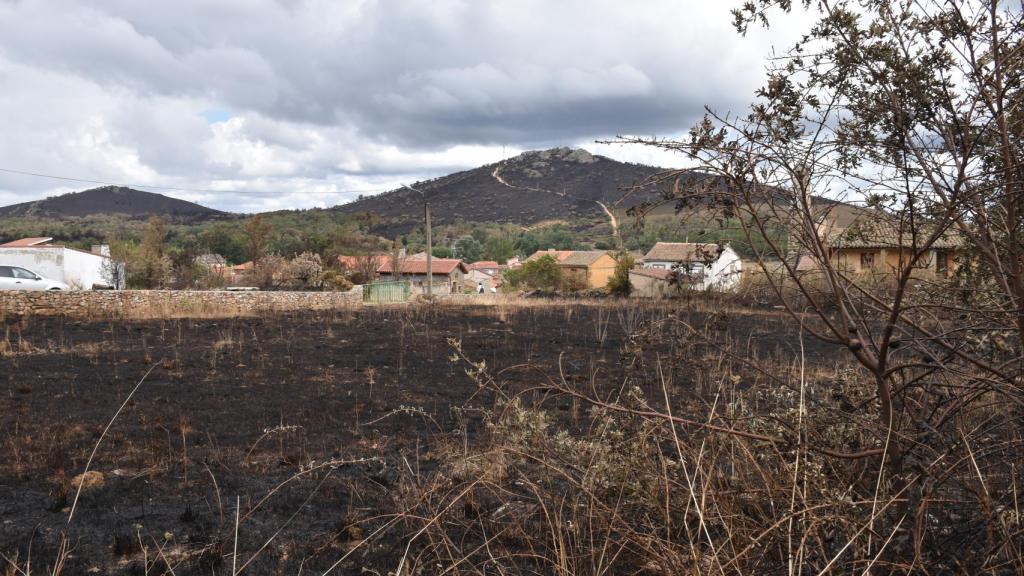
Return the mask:
<path fill-rule="evenodd" d="M 226 290 L 0 291 L 0 318 L 190 318 L 336 310 L 357 305 L 362 292 L 231 292 Z"/>

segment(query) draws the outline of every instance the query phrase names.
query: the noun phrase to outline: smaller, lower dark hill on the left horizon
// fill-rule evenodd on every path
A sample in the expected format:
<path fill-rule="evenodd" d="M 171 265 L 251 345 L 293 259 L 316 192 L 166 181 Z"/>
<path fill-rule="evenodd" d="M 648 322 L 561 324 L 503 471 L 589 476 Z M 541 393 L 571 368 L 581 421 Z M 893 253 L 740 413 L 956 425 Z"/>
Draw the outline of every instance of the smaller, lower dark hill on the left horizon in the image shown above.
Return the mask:
<path fill-rule="evenodd" d="M 0 218 L 81 218 L 99 214 L 124 215 L 133 219 L 159 215 L 178 222 L 217 220 L 231 216 L 228 212 L 162 194 L 114 186 L 0 207 Z"/>

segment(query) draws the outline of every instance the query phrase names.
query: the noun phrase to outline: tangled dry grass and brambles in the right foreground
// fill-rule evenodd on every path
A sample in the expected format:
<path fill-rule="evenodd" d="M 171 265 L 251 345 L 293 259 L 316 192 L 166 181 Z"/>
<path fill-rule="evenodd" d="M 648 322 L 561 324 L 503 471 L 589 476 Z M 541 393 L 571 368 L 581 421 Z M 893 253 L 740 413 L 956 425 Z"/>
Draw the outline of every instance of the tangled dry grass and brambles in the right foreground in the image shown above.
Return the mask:
<path fill-rule="evenodd" d="M 475 445 L 410 477 L 409 573 L 1004 574 L 1021 566 L 1015 407 L 971 404 L 892 469 L 869 375 L 799 355 L 736 354 L 709 319 L 631 322 L 615 385 L 560 373 L 512 394 L 454 341 L 497 399 Z M 679 338 L 653 379 L 643 349 Z M 648 359 L 649 360 L 649 359 Z M 664 362 L 664 365 L 662 364 Z M 700 371 L 674 385 L 670 365 Z M 939 385 L 939 384 L 935 384 Z M 942 393 L 958 394 L 948 382 Z M 565 402 L 586 408 L 577 424 Z M 984 431 L 982 431 L 984 430 Z M 947 442 L 949 438 L 959 442 Z M 884 465 L 885 463 L 885 465 Z M 1015 568 L 1016 567 L 1016 568 Z"/>

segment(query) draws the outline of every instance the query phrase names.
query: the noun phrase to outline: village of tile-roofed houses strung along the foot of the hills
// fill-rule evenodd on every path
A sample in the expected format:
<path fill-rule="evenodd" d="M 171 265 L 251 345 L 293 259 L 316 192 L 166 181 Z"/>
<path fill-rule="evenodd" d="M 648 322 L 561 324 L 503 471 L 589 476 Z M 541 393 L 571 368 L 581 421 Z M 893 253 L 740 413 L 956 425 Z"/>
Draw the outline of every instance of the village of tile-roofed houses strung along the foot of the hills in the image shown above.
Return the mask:
<path fill-rule="evenodd" d="M 885 220 L 881 220 L 885 222 Z M 879 223 L 864 211 L 860 219 L 846 227 L 835 222 L 822 224 L 827 239 L 826 254 L 830 264 L 850 274 L 894 274 L 909 264 L 918 275 L 949 277 L 958 262 L 962 246 L 956 237 L 943 235 L 928 250 L 915 251 L 908 232 L 895 225 Z M 915 252 L 916 255 L 912 255 Z M 520 259 L 465 261 L 461 258 L 429 257 L 426 252 L 408 254 L 404 248 L 393 253 L 338 255 L 328 265 L 318 259 L 312 269 L 301 272 L 304 290 L 331 289 L 317 279 L 334 269 L 348 282 L 349 290 L 361 291 L 368 301 L 380 301 L 387 289 L 387 301 L 407 301 L 411 296 L 444 294 L 515 294 L 529 290 L 553 293 L 587 292 L 591 295 L 617 293 L 637 298 L 667 298 L 693 292 L 734 292 L 743 279 L 763 277 L 772 272 L 792 272 L 813 276 L 819 271 L 818 258 L 810 252 L 794 251 L 782 259 L 743 260 L 728 243 L 656 242 L 647 252 L 614 250 L 542 249 Z M 910 261 L 912 260 L 912 262 Z M 280 260 L 279 260 L 280 261 Z M 287 260 L 286 260 L 287 261 Z M 266 266 L 276 265 L 267 263 Z M 267 273 L 259 261 L 228 264 L 218 254 L 203 254 L 196 264 L 218 280 L 216 288 L 225 290 L 288 289 L 283 287 L 280 268 Z M 547 266 L 548 274 L 523 274 Z M 110 247 L 93 246 L 91 251 L 54 243 L 52 238 L 25 238 L 0 245 L 0 289 L 33 289 L 32 283 L 2 284 L 18 268 L 44 279 L 52 279 L 77 290 L 123 290 L 126 266 L 111 255 Z M 616 273 L 617 270 L 617 273 Z M 262 273 L 262 274 L 260 274 Z M 621 277 L 615 280 L 616 274 Z M 260 277 L 278 279 L 273 286 L 263 285 Z M 428 278 L 431 280 L 428 282 Z M 749 281 L 749 280 L 748 280 Z M 393 283 L 406 283 L 408 289 L 394 290 Z M 610 287 L 610 289 L 609 289 Z M 51 288 L 52 289 L 52 288 Z M 397 299 L 395 299 L 397 298 Z"/>

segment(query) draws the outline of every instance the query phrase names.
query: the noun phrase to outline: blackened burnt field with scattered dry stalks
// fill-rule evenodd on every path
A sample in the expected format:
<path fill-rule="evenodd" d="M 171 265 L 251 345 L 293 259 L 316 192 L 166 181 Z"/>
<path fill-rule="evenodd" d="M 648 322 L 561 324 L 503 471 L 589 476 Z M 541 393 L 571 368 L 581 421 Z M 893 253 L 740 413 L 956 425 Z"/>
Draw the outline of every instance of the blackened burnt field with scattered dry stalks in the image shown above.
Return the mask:
<path fill-rule="evenodd" d="M 669 360 L 685 343 L 683 322 L 751 355 L 798 352 L 776 314 L 679 305 L 8 321 L 0 563 L 48 573 L 65 545 L 66 574 L 226 574 L 232 564 L 387 574 L 410 536 L 388 522 L 398 479 L 427 477 L 446 446 L 472 443 L 495 401 L 453 361 L 450 339 L 512 390 L 559 374 L 621 385 L 624 351 L 638 345 L 649 385 L 663 359 L 674 389 L 702 385 L 699 365 Z M 643 326 L 666 337 L 629 337 Z M 815 361 L 835 354 L 808 345 Z M 535 401 L 579 424 L 567 400 Z"/>

